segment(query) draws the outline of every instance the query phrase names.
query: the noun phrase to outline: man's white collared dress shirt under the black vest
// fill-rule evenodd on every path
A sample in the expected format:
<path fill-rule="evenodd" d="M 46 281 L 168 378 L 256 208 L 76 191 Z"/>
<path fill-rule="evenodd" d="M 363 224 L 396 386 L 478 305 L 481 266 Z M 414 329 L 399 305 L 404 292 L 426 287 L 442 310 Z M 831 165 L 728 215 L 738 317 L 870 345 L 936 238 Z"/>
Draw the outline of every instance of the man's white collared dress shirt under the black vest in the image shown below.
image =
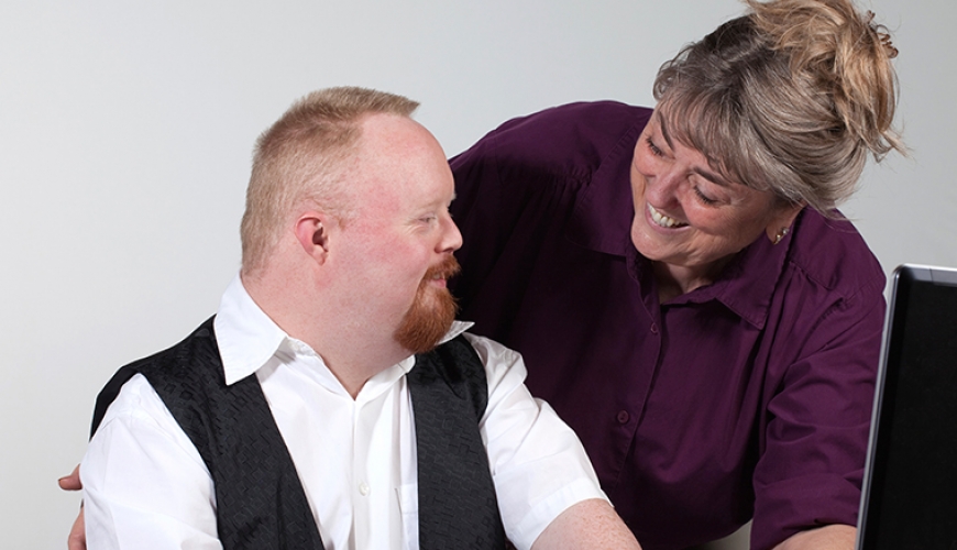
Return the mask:
<path fill-rule="evenodd" d="M 446 340 L 471 324 L 455 322 Z M 306 343 L 288 337 L 237 276 L 215 320 L 227 384 L 255 373 L 293 457 L 327 550 L 418 548 L 418 486 L 409 356 L 353 399 Z M 465 334 L 485 364 L 480 432 L 505 532 L 529 548 L 564 509 L 606 499 L 585 451 L 525 387 L 521 356 Z M 121 389 L 80 468 L 87 546 L 219 549 L 212 479 L 142 375 Z"/>

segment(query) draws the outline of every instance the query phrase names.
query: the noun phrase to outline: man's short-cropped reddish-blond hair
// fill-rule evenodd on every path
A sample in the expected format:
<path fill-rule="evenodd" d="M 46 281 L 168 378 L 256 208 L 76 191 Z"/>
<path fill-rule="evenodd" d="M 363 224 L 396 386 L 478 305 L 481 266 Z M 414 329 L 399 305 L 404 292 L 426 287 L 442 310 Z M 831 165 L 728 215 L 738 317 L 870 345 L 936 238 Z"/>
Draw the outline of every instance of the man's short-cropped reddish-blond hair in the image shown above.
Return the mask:
<path fill-rule="evenodd" d="M 242 268 L 265 265 L 297 205 L 349 218 L 340 185 L 366 114 L 410 117 L 419 103 L 403 96 L 355 87 L 327 88 L 299 99 L 260 135 L 240 224 Z"/>

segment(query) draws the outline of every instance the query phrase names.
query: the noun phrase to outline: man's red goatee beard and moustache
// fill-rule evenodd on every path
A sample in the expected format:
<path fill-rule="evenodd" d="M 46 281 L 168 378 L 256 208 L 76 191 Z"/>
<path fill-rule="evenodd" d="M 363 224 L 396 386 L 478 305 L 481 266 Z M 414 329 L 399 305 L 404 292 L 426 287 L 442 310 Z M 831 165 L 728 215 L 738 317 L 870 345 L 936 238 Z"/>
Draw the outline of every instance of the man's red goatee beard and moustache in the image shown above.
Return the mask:
<path fill-rule="evenodd" d="M 460 270 L 455 256 L 450 255 L 426 272 L 411 307 L 395 331 L 394 338 L 403 348 L 413 353 L 431 351 L 449 331 L 458 310 L 455 298 L 448 288 L 438 287 L 432 280 L 437 276 L 448 280 Z"/>

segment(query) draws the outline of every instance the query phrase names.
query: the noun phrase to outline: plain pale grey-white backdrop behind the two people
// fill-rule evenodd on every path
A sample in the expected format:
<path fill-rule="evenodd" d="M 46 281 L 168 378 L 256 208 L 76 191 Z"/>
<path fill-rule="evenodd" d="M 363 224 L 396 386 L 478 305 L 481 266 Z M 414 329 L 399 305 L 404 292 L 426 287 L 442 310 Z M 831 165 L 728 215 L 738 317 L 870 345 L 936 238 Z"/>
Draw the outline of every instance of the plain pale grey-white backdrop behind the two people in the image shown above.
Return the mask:
<path fill-rule="evenodd" d="M 957 265 L 952 0 L 862 0 L 901 51 L 910 158 L 845 208 L 888 271 Z M 99 387 L 213 314 L 256 135 L 305 92 L 422 102 L 451 155 L 582 99 L 651 105 L 661 62 L 735 0 L 7 0 L 0 7 L 0 531 L 63 548 Z"/>

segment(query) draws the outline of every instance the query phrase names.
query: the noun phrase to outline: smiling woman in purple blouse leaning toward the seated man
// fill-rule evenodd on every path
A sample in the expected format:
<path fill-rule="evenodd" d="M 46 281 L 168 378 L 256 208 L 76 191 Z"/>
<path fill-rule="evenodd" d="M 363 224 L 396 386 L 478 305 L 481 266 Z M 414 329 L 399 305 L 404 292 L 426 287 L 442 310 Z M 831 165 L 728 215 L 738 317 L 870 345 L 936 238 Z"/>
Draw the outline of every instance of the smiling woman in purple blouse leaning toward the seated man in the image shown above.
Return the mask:
<path fill-rule="evenodd" d="M 582 438 L 649 550 L 851 548 L 884 302 L 837 212 L 891 129 L 895 51 L 848 0 L 747 0 L 652 111 L 576 103 L 452 161 L 474 331 Z"/>

